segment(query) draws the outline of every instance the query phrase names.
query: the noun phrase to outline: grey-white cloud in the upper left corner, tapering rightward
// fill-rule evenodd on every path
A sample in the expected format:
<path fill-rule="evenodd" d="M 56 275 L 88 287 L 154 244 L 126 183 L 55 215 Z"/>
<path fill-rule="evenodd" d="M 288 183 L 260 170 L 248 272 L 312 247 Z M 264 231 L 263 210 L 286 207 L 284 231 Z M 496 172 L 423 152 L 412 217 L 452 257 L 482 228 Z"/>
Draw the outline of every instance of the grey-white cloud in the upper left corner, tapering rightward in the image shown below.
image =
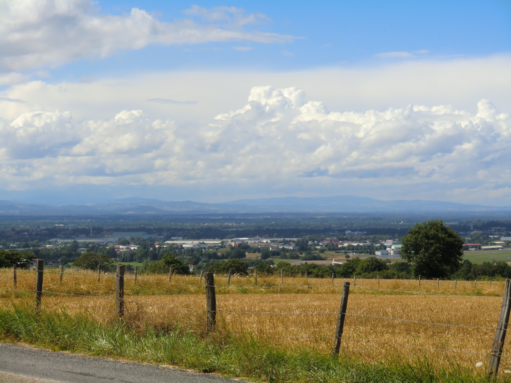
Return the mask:
<path fill-rule="evenodd" d="M 187 18 L 162 22 L 138 8 L 131 9 L 127 15 L 105 15 L 91 0 L 0 2 L 0 70 L 20 71 L 84 58 L 104 58 L 149 44 L 274 43 L 295 38 L 248 31 L 246 26 L 261 23 L 267 17 L 245 15 L 243 10 L 234 7 L 208 10 L 194 6 L 185 14 L 203 21 Z"/>

